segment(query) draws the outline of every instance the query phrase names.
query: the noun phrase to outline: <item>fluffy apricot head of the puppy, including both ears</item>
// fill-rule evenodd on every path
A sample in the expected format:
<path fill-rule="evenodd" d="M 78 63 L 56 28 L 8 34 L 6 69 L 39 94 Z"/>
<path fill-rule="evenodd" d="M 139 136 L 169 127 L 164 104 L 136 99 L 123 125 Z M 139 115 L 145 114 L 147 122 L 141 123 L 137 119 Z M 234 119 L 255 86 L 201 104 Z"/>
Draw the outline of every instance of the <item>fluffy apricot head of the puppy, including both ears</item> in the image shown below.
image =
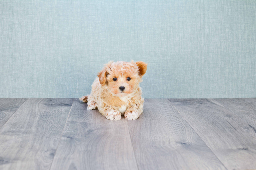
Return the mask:
<path fill-rule="evenodd" d="M 106 86 L 116 96 L 124 97 L 137 89 L 142 76 L 147 71 L 147 65 L 142 61 L 110 61 L 98 73 L 100 84 Z"/>

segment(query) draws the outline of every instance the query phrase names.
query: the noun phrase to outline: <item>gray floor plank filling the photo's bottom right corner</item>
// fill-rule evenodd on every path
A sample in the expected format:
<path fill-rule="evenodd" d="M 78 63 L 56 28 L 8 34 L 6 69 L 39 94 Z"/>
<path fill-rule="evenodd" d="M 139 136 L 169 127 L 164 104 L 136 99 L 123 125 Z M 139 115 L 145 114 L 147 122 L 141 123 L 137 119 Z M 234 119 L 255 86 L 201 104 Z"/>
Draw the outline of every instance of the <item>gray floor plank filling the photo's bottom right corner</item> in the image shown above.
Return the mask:
<path fill-rule="evenodd" d="M 213 99 L 170 99 L 228 169 L 256 168 L 256 134 L 241 115 Z"/>

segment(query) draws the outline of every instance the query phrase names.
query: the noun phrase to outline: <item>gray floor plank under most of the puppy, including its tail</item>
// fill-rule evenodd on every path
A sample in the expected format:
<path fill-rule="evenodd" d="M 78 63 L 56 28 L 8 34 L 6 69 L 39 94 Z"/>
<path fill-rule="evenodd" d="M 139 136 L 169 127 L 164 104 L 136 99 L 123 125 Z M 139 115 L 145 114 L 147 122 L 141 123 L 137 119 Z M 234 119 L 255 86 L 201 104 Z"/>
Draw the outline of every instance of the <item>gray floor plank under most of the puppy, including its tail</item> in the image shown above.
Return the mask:
<path fill-rule="evenodd" d="M 75 100 L 51 169 L 137 169 L 126 119 L 110 121 Z"/>

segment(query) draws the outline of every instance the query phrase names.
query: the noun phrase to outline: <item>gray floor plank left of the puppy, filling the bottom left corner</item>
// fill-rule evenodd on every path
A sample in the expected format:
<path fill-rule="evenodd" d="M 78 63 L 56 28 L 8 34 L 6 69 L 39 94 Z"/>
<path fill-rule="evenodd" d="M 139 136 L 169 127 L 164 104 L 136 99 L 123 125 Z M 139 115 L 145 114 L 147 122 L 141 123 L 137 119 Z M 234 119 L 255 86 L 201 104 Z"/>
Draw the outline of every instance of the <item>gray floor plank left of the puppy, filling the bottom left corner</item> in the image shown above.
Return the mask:
<path fill-rule="evenodd" d="M 0 169 L 49 169 L 74 99 L 27 99 L 0 129 Z"/>

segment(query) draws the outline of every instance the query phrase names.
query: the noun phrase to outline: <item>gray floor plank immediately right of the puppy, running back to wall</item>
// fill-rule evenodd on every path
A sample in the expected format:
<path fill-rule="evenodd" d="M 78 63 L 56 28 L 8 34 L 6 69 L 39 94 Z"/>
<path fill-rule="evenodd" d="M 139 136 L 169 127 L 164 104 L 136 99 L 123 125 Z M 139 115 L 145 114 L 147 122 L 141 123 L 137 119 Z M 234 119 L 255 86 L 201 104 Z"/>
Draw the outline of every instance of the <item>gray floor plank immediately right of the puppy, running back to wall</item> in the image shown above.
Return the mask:
<path fill-rule="evenodd" d="M 146 99 L 127 123 L 140 170 L 226 169 L 168 99 Z"/>

